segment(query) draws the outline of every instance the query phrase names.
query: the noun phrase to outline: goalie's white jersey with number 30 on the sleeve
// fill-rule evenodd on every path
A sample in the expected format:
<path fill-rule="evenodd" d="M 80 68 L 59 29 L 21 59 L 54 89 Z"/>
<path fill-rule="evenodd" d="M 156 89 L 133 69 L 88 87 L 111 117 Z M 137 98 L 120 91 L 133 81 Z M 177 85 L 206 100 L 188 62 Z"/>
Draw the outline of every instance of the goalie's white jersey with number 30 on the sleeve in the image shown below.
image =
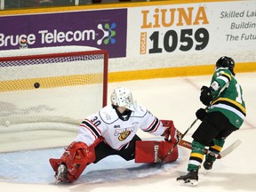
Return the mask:
<path fill-rule="evenodd" d="M 82 141 L 89 146 L 102 136 L 111 148 L 119 150 L 128 146 L 139 129 L 160 136 L 165 128 L 162 122 L 143 106 L 134 106 L 131 116 L 121 120 L 116 114 L 116 109 L 108 105 L 84 119 L 75 141 Z"/>

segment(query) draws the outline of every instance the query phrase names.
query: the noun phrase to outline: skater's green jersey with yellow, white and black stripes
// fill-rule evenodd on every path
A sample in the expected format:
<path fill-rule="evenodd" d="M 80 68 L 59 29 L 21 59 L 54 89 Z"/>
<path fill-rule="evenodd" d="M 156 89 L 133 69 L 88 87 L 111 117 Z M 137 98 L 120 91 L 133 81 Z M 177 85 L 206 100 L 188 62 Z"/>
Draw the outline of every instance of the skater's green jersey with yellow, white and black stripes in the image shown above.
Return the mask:
<path fill-rule="evenodd" d="M 216 86 L 216 83 L 220 87 Z M 244 123 L 246 109 L 243 100 L 243 90 L 240 84 L 237 83 L 235 76 L 231 74 L 228 68 L 218 68 L 212 76 L 211 86 L 214 89 L 212 98 L 215 98 L 223 87 L 226 88 L 220 92 L 220 95 L 215 100 L 212 100 L 208 112 L 220 111 L 228 117 L 231 124 L 236 128 L 240 128 Z"/>

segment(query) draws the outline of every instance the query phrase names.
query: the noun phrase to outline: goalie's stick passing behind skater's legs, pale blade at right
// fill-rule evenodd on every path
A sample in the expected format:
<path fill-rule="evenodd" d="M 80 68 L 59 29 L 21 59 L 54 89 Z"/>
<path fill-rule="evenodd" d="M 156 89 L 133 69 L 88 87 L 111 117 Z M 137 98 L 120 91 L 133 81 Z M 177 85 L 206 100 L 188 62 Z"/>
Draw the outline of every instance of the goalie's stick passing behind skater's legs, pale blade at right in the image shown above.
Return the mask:
<path fill-rule="evenodd" d="M 228 156 L 228 154 L 230 154 L 232 151 L 234 151 L 238 146 L 240 146 L 242 143 L 241 140 L 236 140 L 235 142 L 233 142 L 230 146 L 228 146 L 228 148 L 225 148 L 224 150 L 220 151 L 220 154 L 217 156 L 218 159 L 223 158 L 225 156 Z M 184 147 L 184 148 L 189 148 L 192 149 L 192 144 L 191 142 L 188 142 L 187 140 L 180 140 L 179 143 L 180 146 Z M 208 152 L 208 149 L 205 148 L 204 149 L 204 155 L 206 155 Z"/>

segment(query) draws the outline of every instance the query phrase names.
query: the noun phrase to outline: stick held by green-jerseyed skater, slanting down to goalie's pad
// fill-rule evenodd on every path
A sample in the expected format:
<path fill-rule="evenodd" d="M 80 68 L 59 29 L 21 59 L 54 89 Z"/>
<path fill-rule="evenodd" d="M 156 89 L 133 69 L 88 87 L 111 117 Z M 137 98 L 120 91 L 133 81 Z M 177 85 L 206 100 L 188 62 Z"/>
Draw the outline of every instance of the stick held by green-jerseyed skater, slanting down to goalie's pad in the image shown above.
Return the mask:
<path fill-rule="evenodd" d="M 229 83 L 228 83 L 228 84 L 229 84 Z M 225 86 L 223 86 L 223 87 L 221 88 L 220 92 L 223 92 L 224 89 L 226 89 L 226 88 L 228 87 L 228 84 L 225 84 Z M 213 102 L 214 100 L 216 100 L 216 99 L 219 97 L 220 92 L 212 99 L 212 102 Z M 212 102 L 211 102 L 211 103 L 212 103 Z M 211 107 L 211 104 L 208 105 L 206 108 L 204 108 L 204 110 L 207 110 L 207 109 L 210 108 L 210 107 Z M 159 164 L 159 167 L 161 167 L 161 166 L 165 163 L 165 159 L 167 158 L 167 156 L 170 156 L 170 155 L 172 154 L 172 151 L 174 150 L 174 148 L 177 147 L 177 145 L 180 143 L 180 140 L 182 140 L 182 139 L 184 138 L 184 136 L 188 133 L 188 131 L 192 128 L 192 126 L 193 126 L 194 124 L 196 124 L 197 120 L 198 120 L 198 118 L 196 118 L 196 119 L 194 120 L 194 122 L 188 127 L 188 129 L 186 130 L 186 132 L 184 132 L 183 134 L 181 134 L 181 137 L 178 138 L 177 142 L 172 146 L 172 148 L 171 148 L 171 149 L 168 151 L 168 153 L 164 156 L 164 158 L 162 159 L 162 161 L 161 161 L 160 164 Z"/>

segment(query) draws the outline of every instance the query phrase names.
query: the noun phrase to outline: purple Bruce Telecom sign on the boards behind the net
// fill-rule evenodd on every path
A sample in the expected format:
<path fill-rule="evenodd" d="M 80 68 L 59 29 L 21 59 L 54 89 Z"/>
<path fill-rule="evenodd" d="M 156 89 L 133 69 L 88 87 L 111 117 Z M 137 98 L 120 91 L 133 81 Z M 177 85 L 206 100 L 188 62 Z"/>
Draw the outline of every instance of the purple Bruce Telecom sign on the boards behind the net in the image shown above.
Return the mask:
<path fill-rule="evenodd" d="M 126 56 L 127 9 L 61 12 L 0 17 L 0 50 L 84 45 L 107 50 L 109 58 Z"/>

